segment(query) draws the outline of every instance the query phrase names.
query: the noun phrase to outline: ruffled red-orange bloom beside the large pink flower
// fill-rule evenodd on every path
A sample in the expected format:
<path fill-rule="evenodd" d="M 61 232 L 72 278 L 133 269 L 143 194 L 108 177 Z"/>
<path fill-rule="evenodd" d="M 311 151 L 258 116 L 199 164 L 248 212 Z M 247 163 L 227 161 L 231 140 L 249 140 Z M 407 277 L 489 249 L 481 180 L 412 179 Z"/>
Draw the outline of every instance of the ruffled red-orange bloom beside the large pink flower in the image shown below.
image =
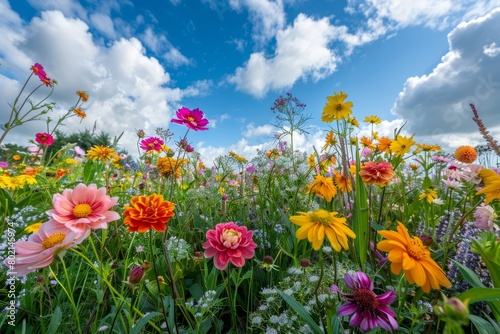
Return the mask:
<path fill-rule="evenodd" d="M 159 194 L 134 196 L 123 212 L 123 224 L 128 226 L 129 232 L 144 233 L 151 228 L 163 232 L 167 229 L 167 222 L 175 215 L 174 209 L 175 204 Z"/>

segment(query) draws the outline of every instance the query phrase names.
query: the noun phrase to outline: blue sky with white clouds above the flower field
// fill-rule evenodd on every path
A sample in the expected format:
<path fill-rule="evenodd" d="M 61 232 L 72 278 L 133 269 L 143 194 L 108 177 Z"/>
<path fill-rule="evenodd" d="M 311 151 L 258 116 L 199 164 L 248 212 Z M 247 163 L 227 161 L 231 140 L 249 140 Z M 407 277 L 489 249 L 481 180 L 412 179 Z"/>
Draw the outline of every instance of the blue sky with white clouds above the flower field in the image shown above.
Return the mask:
<path fill-rule="evenodd" d="M 476 104 L 500 138 L 500 1 L 477 0 L 0 0 L 0 121 L 30 66 L 59 84 L 63 112 L 75 91 L 90 94 L 85 127 L 136 152 L 137 129 L 170 128 L 181 106 L 210 120 L 188 140 L 203 160 L 228 151 L 247 158 L 273 145 L 271 106 L 287 92 L 306 103 L 310 135 L 297 148 L 321 146 L 326 96 L 342 90 L 376 130 L 416 133 L 447 150 L 484 144 L 471 120 Z M 44 123 L 8 135 L 27 145 Z M 361 127 L 359 135 L 366 134 Z"/>

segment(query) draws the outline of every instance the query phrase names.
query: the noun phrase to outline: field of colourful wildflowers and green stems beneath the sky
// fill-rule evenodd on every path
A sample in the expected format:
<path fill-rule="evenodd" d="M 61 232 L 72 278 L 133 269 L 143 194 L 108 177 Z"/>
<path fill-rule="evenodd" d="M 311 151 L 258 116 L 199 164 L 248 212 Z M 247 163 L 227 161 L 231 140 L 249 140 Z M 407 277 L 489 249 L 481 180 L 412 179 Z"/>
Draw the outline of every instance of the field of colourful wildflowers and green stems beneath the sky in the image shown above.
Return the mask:
<path fill-rule="evenodd" d="M 178 139 L 137 132 L 137 159 L 117 141 L 53 149 L 91 97 L 50 119 L 56 82 L 31 71 L 0 137 L 46 120 L 0 151 L 2 333 L 500 333 L 500 148 L 474 105 L 488 145 L 446 153 L 379 136 L 377 116 L 357 136 L 335 92 L 306 154 L 305 105 L 287 94 L 275 148 L 207 168 L 189 133 L 208 120 L 186 107 Z"/>

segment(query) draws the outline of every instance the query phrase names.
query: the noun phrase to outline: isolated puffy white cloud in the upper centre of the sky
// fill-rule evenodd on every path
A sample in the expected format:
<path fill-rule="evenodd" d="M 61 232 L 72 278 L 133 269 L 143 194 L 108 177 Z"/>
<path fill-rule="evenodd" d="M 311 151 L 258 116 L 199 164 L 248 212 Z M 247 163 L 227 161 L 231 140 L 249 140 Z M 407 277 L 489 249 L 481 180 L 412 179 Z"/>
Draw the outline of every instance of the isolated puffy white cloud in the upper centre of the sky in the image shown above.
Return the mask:
<path fill-rule="evenodd" d="M 339 61 L 328 48 L 333 37 L 328 19 L 314 20 L 300 14 L 292 26 L 276 35 L 272 58 L 253 53 L 228 81 L 240 91 L 263 97 L 269 90 L 291 87 L 300 78 L 322 79 L 335 71 Z"/>

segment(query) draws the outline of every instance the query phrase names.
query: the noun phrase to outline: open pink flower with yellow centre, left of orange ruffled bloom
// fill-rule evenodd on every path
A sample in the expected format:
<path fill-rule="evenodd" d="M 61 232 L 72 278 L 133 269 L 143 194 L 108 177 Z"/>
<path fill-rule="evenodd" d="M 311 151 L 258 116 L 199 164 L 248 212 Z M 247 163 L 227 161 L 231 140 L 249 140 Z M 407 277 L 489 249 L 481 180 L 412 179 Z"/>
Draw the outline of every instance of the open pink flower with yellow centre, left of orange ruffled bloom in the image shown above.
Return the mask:
<path fill-rule="evenodd" d="M 107 228 L 108 223 L 120 219 L 115 211 L 109 211 L 118 201 L 118 197 L 106 195 L 106 188 L 99 188 L 95 184 L 88 187 L 80 183 L 75 189 L 65 189 L 62 194 L 55 194 L 52 198 L 53 209 L 47 214 L 52 220 L 67 228 L 83 232 L 89 228 Z"/>

